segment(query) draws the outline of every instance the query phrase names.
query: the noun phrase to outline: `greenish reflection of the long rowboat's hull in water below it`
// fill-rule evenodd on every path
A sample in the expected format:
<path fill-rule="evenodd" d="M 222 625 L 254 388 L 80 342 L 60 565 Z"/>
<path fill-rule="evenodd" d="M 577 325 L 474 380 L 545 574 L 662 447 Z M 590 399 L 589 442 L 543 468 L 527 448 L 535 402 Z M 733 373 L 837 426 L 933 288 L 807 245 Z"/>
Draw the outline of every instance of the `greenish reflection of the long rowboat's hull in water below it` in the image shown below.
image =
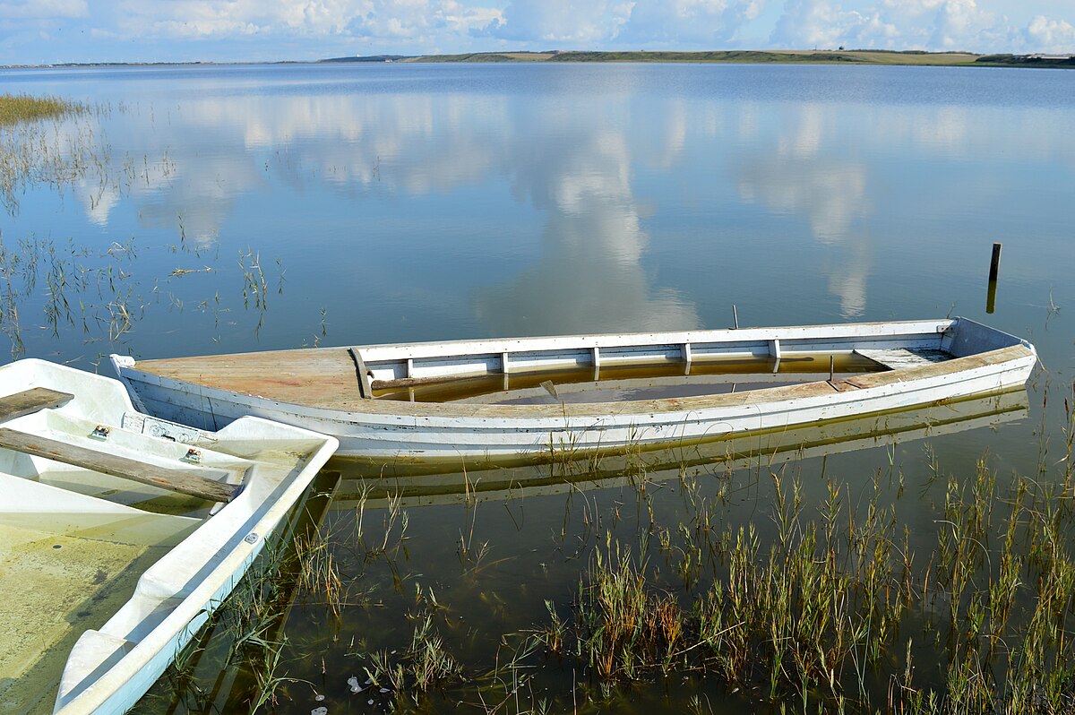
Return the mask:
<path fill-rule="evenodd" d="M 1026 419 L 1028 407 L 1026 388 L 1017 387 L 1006 392 L 913 410 L 765 432 L 743 432 L 689 447 L 602 455 L 576 461 L 431 472 L 421 470 L 421 464 L 410 462 L 369 464 L 350 460 L 336 462 L 340 486 L 332 496 L 332 505 L 339 510 L 510 502 L 522 497 L 577 494 L 711 475 L 726 478 L 731 472 L 741 470 L 764 474 L 776 472 L 789 462 L 995 428 Z"/>

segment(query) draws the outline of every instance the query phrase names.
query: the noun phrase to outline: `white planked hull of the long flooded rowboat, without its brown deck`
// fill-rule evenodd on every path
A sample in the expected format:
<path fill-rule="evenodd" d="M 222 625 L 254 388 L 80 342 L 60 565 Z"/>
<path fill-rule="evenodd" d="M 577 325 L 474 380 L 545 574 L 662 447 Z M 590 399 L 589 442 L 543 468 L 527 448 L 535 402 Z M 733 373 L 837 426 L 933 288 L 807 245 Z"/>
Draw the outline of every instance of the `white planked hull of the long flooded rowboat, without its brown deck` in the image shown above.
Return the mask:
<path fill-rule="evenodd" d="M 895 325 L 895 328 L 891 326 Z M 842 337 L 815 339 L 816 352 L 850 352 L 859 342 L 892 346 L 911 344 L 943 346 L 956 341 L 951 320 L 919 324 L 866 324 L 846 326 Z M 877 326 L 886 326 L 878 328 Z M 909 326 L 909 327 L 908 327 Z M 833 327 L 825 326 L 832 332 Z M 734 344 L 735 349 L 754 349 L 749 341 L 779 341 L 779 331 L 811 329 L 765 329 L 760 339 L 749 331 L 712 331 L 694 333 L 696 344 L 705 340 L 712 346 Z M 928 331 L 932 330 L 932 337 Z M 370 459 L 405 458 L 415 460 L 504 461 L 542 458 L 550 453 L 585 454 L 627 447 L 650 447 L 675 443 L 697 443 L 759 429 L 806 425 L 857 415 L 902 410 L 942 400 L 1003 391 L 1026 383 L 1036 362 L 1033 347 L 1017 338 L 964 321 L 964 330 L 986 331 L 978 335 L 986 349 L 956 356 L 946 362 L 870 373 L 846 381 L 822 381 L 807 385 L 774 387 L 736 395 L 717 395 L 602 404 L 563 405 L 462 405 L 410 403 L 392 400 L 367 400 L 369 410 L 328 410 L 233 390 L 219 389 L 188 381 L 150 374 L 138 369 L 130 358 L 114 356 L 113 362 L 123 382 L 138 403 L 150 413 L 185 424 L 214 428 L 243 415 L 258 415 L 306 429 L 332 434 L 340 440 L 339 455 Z M 823 332 L 821 328 L 815 332 Z M 761 332 L 756 330 L 755 332 Z M 794 333 L 796 335 L 807 332 Z M 907 338 L 909 335 L 909 338 Z M 576 339 L 533 339 L 534 342 L 624 342 L 625 337 Z M 630 338 L 630 337 L 627 337 Z M 646 335 L 649 342 L 674 344 L 679 334 Z M 872 341 L 872 342 L 871 342 Z M 501 341 L 502 343 L 507 341 Z M 513 341 L 518 349 L 531 349 L 526 341 Z M 460 345 L 447 345 L 464 352 Z M 746 347 L 744 347 L 746 345 Z M 484 354 L 494 354 L 502 345 L 483 345 Z M 398 351 L 414 346 L 401 346 Z M 362 348 L 369 356 L 386 346 Z M 560 348 L 569 352 L 570 347 Z M 583 349 L 591 349 L 584 345 Z M 577 351 L 576 351 L 577 352 Z M 594 353 L 597 354 L 597 353 Z M 696 353 L 697 355 L 697 353 Z M 396 363 L 399 358 L 392 358 Z M 407 358 L 413 360 L 413 358 Z M 506 359 L 505 359 L 506 362 Z M 373 357 L 370 373 L 379 368 Z M 388 358 L 384 364 L 388 364 Z M 452 368 L 448 368 L 449 370 Z M 399 373 L 393 373 L 398 376 Z M 392 375 L 388 375 L 392 376 Z"/>

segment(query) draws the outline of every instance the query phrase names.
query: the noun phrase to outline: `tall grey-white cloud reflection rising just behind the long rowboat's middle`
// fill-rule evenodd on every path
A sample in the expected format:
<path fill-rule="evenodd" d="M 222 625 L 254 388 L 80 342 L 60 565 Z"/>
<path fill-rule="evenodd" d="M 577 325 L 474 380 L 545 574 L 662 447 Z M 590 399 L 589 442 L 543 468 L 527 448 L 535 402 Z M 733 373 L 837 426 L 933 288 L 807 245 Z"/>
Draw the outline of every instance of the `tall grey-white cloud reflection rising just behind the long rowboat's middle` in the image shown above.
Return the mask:
<path fill-rule="evenodd" d="M 514 188 L 547 216 L 541 256 L 513 281 L 475 291 L 483 324 L 496 334 L 698 327 L 683 296 L 650 288 L 622 133 L 582 127 L 540 145 L 516 155 Z"/>

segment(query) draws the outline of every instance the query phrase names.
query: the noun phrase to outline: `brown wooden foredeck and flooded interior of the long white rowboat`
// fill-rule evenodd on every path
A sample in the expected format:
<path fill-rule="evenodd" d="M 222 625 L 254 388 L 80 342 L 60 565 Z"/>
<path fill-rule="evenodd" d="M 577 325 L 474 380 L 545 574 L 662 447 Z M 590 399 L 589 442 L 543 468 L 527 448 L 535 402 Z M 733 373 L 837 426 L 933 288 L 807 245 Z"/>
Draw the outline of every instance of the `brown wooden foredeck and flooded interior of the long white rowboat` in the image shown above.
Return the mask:
<path fill-rule="evenodd" d="M 137 371 L 277 402 L 361 412 L 369 398 L 542 405 L 716 396 L 954 357 L 941 349 L 944 333 L 934 323 L 868 325 L 860 327 L 862 334 L 837 328 L 320 347 L 139 360 Z M 975 338 L 973 327 L 964 332 L 963 342 Z M 965 348 L 961 355 L 969 354 Z M 134 362 L 126 367 L 133 369 Z"/>

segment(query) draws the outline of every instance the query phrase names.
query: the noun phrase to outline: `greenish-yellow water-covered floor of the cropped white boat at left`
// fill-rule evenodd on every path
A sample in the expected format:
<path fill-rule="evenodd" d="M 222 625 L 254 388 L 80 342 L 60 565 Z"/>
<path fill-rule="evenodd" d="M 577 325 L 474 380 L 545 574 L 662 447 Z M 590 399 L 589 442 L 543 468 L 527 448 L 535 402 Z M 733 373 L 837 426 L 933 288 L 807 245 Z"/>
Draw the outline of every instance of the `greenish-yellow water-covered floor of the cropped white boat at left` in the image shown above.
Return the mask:
<path fill-rule="evenodd" d="M 130 598 L 139 576 L 200 524 L 169 514 L 198 514 L 204 502 L 159 501 L 161 514 L 120 518 L 0 513 L 0 712 L 52 713 L 56 684 L 78 637 L 103 626 Z"/>

